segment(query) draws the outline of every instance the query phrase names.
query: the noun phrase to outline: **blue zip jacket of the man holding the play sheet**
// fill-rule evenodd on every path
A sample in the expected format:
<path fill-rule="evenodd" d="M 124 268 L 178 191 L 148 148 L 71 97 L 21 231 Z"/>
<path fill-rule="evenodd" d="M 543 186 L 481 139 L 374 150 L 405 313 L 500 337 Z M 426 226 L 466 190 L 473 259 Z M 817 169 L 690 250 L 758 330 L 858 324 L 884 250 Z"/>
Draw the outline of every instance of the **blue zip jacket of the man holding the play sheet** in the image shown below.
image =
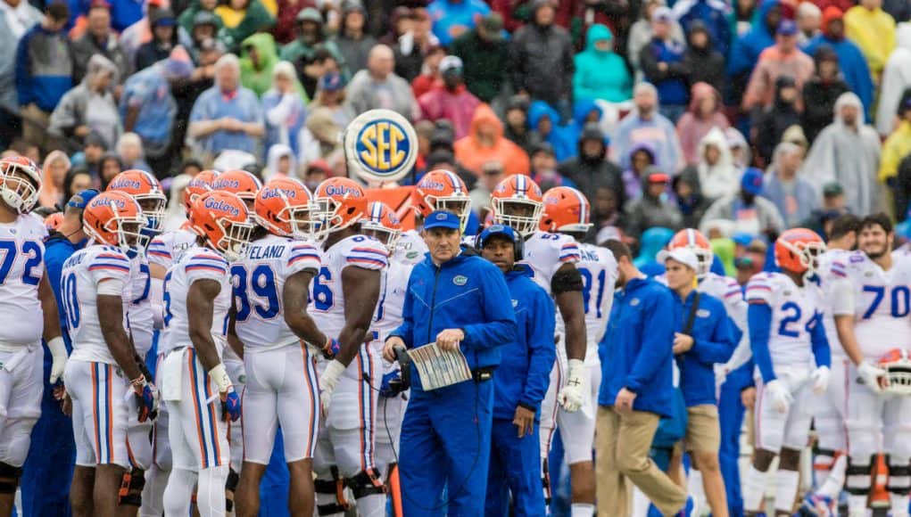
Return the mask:
<path fill-rule="evenodd" d="M 445 329 L 462 329 L 461 350 L 472 370 L 500 364 L 500 347 L 516 340 L 516 314 L 503 273 L 484 258 L 451 258 L 436 267 L 427 253 L 408 279 L 402 325 L 391 336 L 408 348 L 436 340 Z M 421 390 L 416 370 L 412 388 Z"/>

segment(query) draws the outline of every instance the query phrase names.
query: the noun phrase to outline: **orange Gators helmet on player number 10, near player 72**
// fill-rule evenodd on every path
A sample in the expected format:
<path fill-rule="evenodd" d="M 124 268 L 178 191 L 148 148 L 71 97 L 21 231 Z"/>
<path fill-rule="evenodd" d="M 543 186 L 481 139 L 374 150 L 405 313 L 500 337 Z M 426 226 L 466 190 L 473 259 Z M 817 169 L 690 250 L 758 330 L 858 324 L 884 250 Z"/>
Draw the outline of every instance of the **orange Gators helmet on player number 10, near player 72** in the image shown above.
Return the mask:
<path fill-rule="evenodd" d="M 88 237 L 130 255 L 145 248 L 148 237 L 142 235 L 142 228 L 146 224 L 138 201 L 118 190 L 98 194 L 82 213 L 82 228 Z"/>

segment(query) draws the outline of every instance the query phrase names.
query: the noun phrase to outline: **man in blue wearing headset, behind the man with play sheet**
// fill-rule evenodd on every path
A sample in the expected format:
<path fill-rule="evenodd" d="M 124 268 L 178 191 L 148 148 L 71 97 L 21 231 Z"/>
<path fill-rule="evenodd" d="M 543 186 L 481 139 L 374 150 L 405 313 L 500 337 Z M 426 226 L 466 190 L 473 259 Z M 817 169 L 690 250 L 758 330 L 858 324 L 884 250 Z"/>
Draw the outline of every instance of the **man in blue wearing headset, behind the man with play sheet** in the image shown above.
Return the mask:
<path fill-rule="evenodd" d="M 518 324 L 516 340 L 500 350 L 503 360 L 494 377 L 486 515 L 509 515 L 511 493 L 514 515 L 538 517 L 547 513 L 538 475 L 538 431 L 541 400 L 548 391 L 550 370 L 557 360 L 557 309 L 548 292 L 531 279 L 531 270 L 516 264 L 522 258 L 522 238 L 512 228 L 486 228 L 478 236 L 475 248 L 506 275 Z"/>

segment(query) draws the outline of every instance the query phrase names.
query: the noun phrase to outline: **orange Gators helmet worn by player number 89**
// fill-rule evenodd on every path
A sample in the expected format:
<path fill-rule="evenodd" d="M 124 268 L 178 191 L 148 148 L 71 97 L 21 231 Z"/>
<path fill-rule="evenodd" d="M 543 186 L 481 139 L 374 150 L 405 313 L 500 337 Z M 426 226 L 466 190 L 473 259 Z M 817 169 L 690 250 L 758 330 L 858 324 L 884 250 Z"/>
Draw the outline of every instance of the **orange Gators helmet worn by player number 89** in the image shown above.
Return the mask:
<path fill-rule="evenodd" d="M 256 222 L 275 235 L 310 238 L 316 208 L 310 190 L 293 177 L 275 177 L 256 195 Z"/>

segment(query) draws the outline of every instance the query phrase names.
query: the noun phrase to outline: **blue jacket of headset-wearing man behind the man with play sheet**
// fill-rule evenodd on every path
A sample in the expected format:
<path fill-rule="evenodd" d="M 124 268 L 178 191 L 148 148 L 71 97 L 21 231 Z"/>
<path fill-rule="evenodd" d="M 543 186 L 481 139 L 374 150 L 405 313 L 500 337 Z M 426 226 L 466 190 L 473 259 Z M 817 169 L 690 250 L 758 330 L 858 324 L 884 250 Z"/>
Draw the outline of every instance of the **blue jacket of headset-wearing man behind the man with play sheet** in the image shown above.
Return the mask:
<path fill-rule="evenodd" d="M 519 403 L 540 418 L 541 400 L 548 391 L 550 370 L 557 360 L 557 309 L 525 266 L 507 273 L 507 286 L 518 329 L 516 339 L 500 350 L 502 359 L 494 376 L 494 418 L 511 421 Z"/>

